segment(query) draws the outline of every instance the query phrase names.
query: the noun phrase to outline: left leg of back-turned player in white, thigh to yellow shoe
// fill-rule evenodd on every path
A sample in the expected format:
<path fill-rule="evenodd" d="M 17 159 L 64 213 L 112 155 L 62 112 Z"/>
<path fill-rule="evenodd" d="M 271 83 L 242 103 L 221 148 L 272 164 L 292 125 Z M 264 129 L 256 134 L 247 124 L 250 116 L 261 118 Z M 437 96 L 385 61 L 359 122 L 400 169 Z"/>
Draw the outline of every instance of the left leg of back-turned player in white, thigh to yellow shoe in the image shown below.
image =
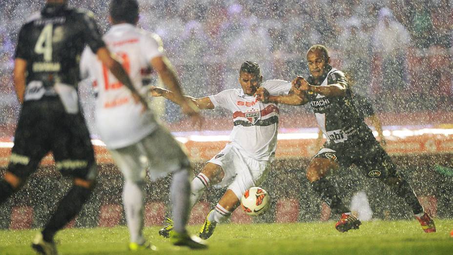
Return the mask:
<path fill-rule="evenodd" d="M 129 229 L 129 250 L 154 248 L 146 242 L 143 235 L 144 221 L 144 178 L 146 162 L 140 160 L 145 156 L 137 145 L 120 149 L 111 149 L 110 154 L 124 176 L 123 204 Z"/>

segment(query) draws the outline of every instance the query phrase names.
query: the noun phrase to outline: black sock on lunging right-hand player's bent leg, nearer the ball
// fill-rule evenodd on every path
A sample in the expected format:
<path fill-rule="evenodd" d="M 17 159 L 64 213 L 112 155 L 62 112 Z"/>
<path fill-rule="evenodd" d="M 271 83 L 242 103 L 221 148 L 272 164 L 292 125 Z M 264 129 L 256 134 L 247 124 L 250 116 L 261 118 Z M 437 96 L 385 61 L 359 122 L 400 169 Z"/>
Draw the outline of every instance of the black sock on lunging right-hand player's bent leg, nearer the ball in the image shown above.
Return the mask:
<path fill-rule="evenodd" d="M 321 197 L 321 200 L 329 205 L 332 213 L 350 212 L 345 204 L 343 204 L 343 201 L 340 198 L 340 193 L 326 178 L 321 178 L 312 182 L 311 187 L 313 187 L 313 191 Z"/>

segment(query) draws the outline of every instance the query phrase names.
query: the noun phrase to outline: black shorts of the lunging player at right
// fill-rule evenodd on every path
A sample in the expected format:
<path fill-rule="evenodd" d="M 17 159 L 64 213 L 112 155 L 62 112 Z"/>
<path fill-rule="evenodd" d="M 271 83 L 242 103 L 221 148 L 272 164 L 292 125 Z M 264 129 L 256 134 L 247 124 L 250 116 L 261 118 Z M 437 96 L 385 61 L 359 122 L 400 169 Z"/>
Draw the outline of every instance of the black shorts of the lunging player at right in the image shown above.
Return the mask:
<path fill-rule="evenodd" d="M 356 165 L 367 177 L 396 177 L 396 166 L 376 139 L 360 142 L 329 143 L 314 158 L 328 158 L 343 168 Z"/>

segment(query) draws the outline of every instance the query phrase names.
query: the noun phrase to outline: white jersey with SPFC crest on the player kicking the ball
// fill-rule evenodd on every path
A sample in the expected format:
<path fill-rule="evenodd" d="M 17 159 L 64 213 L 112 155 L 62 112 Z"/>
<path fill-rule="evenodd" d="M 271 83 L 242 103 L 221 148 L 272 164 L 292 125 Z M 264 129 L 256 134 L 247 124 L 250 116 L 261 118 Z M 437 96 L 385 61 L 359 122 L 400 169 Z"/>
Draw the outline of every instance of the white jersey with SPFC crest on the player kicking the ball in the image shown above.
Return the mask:
<path fill-rule="evenodd" d="M 270 95 L 286 95 L 291 83 L 283 80 L 268 80 L 261 84 Z M 237 146 L 247 157 L 256 160 L 272 160 L 277 148 L 277 104 L 256 101 L 254 96 L 244 94 L 242 88 L 227 89 L 209 96 L 215 108 L 221 107 L 233 113 L 234 127 L 230 134 L 231 144 Z"/>

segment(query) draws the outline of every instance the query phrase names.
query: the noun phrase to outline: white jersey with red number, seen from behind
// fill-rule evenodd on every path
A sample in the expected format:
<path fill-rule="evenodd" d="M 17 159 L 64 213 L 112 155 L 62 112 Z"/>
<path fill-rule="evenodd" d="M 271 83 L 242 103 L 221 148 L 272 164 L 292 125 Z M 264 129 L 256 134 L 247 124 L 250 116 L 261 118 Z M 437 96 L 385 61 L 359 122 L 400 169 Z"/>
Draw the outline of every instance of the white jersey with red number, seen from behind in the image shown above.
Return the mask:
<path fill-rule="evenodd" d="M 123 23 L 113 25 L 103 40 L 123 64 L 137 91 L 145 94 L 143 80 L 149 78 L 152 71 L 150 61 L 163 54 L 160 38 Z M 89 48 L 82 54 L 81 74 L 82 77 L 89 75 L 94 78 L 97 86 L 96 126 L 107 148 L 119 149 L 134 144 L 156 128 L 153 112 L 144 111 L 143 106 L 134 101 L 130 90 L 103 66 Z"/>

